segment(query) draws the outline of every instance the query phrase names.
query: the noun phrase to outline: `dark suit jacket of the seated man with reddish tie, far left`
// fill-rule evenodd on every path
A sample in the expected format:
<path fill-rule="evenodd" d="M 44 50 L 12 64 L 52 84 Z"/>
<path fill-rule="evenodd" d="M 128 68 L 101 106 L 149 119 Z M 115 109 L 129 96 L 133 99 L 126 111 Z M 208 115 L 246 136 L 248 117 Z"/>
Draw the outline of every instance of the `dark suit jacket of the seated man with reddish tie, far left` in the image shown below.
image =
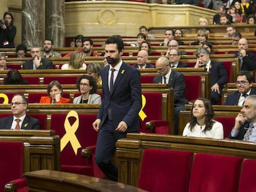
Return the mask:
<path fill-rule="evenodd" d="M 13 115 L 1 118 L 0 119 L 0 129 L 11 129 L 13 120 L 14 120 Z M 40 122 L 38 119 L 35 119 L 33 117 L 26 115 L 25 119 L 22 122 L 22 126 L 20 127 L 20 129 L 39 130 Z"/>

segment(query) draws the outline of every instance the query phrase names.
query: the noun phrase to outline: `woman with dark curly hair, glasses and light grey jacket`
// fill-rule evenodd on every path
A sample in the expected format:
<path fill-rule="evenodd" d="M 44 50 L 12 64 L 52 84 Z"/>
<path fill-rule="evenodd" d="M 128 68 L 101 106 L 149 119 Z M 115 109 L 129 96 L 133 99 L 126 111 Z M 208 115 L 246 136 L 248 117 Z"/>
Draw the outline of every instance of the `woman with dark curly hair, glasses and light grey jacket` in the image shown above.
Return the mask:
<path fill-rule="evenodd" d="M 80 76 L 77 79 L 77 88 L 79 89 L 81 95 L 74 98 L 73 103 L 101 104 L 101 96 L 96 94 L 97 85 L 92 76 Z"/>

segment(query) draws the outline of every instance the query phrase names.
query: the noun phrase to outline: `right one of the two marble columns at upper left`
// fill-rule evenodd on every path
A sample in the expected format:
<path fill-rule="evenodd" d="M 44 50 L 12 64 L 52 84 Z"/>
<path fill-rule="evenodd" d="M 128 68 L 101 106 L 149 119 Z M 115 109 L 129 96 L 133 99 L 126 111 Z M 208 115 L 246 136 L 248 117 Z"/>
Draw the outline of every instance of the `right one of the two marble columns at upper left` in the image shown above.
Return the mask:
<path fill-rule="evenodd" d="M 45 38 L 53 40 L 54 47 L 64 47 L 64 0 L 46 0 L 45 2 Z"/>

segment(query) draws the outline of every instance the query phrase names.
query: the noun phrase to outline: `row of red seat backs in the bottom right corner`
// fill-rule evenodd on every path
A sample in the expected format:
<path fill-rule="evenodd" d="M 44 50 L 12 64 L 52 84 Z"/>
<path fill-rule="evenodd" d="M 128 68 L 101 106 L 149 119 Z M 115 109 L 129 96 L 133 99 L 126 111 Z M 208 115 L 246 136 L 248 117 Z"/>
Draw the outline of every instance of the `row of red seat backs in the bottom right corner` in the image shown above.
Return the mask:
<path fill-rule="evenodd" d="M 255 159 L 202 152 L 145 149 L 139 188 L 151 192 L 248 192 L 254 191 L 256 187 L 253 177 L 250 177 L 255 170 Z"/>

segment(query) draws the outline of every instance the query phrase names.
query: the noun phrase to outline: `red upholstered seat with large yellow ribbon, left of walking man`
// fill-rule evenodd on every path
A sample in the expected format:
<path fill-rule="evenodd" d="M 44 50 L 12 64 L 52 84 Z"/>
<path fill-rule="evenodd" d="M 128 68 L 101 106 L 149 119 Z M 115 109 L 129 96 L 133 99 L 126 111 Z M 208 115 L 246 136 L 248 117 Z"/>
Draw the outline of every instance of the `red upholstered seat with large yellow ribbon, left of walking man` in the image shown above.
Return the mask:
<path fill-rule="evenodd" d="M 81 151 L 88 146 L 95 146 L 98 137 L 92 123 L 96 119 L 96 114 L 52 114 L 51 129 L 56 131 L 56 135 L 61 138 L 61 170 L 64 172 L 78 173 L 94 177 L 96 175 L 94 159 L 82 158 Z M 66 123 L 65 123 L 66 122 Z M 71 142 L 66 143 L 64 138 L 70 134 Z M 74 147 L 75 142 L 79 142 L 78 148 Z M 63 149 L 62 149 L 63 148 Z"/>

